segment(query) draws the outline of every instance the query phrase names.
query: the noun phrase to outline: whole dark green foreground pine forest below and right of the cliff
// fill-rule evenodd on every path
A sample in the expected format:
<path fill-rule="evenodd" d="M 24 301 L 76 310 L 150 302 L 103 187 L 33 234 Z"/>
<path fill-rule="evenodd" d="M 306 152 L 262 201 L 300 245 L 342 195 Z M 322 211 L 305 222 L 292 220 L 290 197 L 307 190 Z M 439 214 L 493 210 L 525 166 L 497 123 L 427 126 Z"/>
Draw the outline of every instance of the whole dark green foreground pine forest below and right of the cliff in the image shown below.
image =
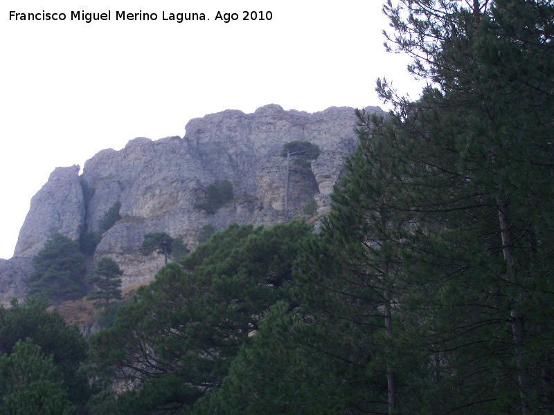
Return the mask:
<path fill-rule="evenodd" d="M 551 414 L 554 5 L 384 11 L 429 86 L 377 82 L 394 109 L 356 111 L 319 232 L 206 234 L 86 341 L 37 299 L 1 308 L 3 378 L 52 355 L 52 405 L 82 414 Z"/>

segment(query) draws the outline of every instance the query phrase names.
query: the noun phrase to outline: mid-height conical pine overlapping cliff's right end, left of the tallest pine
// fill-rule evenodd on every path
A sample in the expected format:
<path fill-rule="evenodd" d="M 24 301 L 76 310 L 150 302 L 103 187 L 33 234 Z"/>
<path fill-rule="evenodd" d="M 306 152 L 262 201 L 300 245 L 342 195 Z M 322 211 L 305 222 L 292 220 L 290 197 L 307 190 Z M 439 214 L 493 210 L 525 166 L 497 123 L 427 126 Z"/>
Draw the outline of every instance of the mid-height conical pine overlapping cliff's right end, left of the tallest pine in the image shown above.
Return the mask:
<path fill-rule="evenodd" d="M 348 367 L 344 410 L 395 413 L 398 382 L 417 360 L 401 356 L 395 325 L 406 292 L 402 252 L 419 218 L 406 208 L 406 169 L 389 145 L 394 129 L 364 111 L 357 118 L 359 145 L 332 194 L 321 241 L 310 248 L 301 302 L 332 339 L 319 353 Z"/>

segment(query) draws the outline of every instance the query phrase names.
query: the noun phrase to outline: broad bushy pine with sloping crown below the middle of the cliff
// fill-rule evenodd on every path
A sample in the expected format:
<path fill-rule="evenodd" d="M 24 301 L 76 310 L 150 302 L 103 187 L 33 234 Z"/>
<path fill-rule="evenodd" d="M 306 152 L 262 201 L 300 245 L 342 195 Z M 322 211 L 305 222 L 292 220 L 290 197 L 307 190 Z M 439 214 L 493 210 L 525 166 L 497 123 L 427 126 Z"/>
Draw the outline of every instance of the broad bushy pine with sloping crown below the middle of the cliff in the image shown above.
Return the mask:
<path fill-rule="evenodd" d="M 262 315 L 287 298 L 298 248 L 311 236 L 301 223 L 231 225 L 139 288 L 111 329 L 91 338 L 101 373 L 132 385 L 118 405 L 186 408 L 220 385 Z"/>

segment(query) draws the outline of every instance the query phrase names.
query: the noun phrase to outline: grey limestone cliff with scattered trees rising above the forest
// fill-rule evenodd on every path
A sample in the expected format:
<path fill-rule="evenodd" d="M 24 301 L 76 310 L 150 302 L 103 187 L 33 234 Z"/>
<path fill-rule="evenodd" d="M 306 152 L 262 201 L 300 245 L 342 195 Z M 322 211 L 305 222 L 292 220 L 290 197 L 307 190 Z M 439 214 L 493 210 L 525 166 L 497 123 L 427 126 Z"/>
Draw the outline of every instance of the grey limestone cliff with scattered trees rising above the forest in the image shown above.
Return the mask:
<path fill-rule="evenodd" d="M 370 110 L 382 113 L 379 107 Z M 183 138 L 136 138 L 120 151 L 102 150 L 80 176 L 78 166 L 58 167 L 31 201 L 15 257 L 0 264 L 1 301 L 24 293 L 21 278 L 30 259 L 53 232 L 78 239 L 81 232 L 97 231 L 117 201 L 123 219 L 102 235 L 94 259 L 114 258 L 125 272 L 123 286 L 152 278 L 163 262 L 139 254 L 145 233 L 181 235 L 194 248 L 208 223 L 222 230 L 233 222 L 285 220 L 286 160 L 280 151 L 293 140 L 310 141 L 322 152 L 311 165 L 292 163 L 289 216 L 301 215 L 309 199 L 325 212 L 343 160 L 355 148 L 354 123 L 353 110 L 346 107 L 318 113 L 274 104 L 249 114 L 228 110 L 190 120 Z M 233 184 L 235 198 L 214 214 L 199 208 L 208 185 L 223 180 Z"/>

